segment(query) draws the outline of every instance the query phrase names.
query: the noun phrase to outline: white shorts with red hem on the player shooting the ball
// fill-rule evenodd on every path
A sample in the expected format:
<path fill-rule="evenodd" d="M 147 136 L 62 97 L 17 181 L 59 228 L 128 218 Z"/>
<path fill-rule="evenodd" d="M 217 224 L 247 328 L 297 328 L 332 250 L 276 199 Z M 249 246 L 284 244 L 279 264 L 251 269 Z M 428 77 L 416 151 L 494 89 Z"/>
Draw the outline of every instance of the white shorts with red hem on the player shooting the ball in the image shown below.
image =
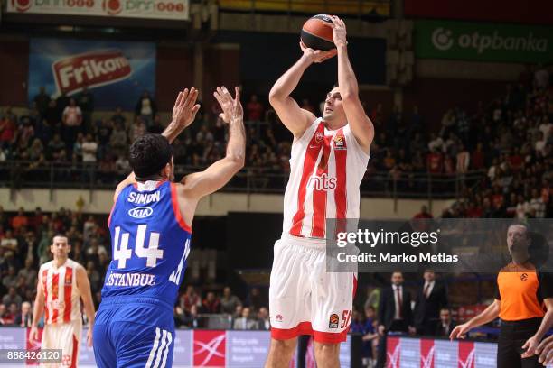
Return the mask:
<path fill-rule="evenodd" d="M 313 335 L 323 344 L 346 340 L 357 274 L 327 272 L 325 255 L 324 240 L 283 235 L 275 243 L 269 289 L 273 338 Z"/>

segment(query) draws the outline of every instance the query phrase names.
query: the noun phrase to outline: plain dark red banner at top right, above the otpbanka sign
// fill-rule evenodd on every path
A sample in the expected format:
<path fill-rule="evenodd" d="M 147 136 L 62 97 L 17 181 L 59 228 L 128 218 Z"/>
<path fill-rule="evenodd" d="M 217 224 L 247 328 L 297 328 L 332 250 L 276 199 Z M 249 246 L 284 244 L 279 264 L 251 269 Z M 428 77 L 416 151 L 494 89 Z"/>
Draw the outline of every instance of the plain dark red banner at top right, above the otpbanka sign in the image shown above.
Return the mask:
<path fill-rule="evenodd" d="M 509 23 L 551 24 L 548 1 L 530 0 L 405 0 L 405 15 L 415 18 L 460 19 Z"/>

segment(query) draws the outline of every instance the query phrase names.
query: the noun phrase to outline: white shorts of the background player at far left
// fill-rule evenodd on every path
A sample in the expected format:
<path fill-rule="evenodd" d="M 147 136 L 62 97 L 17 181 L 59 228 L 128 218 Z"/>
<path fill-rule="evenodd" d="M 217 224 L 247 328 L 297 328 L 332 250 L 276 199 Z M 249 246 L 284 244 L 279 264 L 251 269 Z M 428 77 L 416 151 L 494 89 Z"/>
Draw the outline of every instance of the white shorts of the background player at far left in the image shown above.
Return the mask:
<path fill-rule="evenodd" d="M 79 362 L 80 336 L 82 322 L 80 319 L 48 324 L 42 331 L 41 349 L 61 349 L 61 363 L 42 363 L 42 367 L 77 367 Z"/>

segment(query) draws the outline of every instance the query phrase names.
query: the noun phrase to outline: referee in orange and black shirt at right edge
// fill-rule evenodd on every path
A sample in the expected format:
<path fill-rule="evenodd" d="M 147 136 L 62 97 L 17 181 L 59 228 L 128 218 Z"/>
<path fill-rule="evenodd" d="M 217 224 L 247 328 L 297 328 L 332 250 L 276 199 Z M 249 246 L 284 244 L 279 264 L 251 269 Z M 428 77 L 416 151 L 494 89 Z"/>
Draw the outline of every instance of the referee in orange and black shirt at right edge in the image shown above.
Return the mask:
<path fill-rule="evenodd" d="M 492 305 L 455 327 L 449 337 L 464 338 L 472 328 L 500 317 L 497 366 L 539 367 L 538 356 L 534 354 L 553 322 L 553 281 L 548 273 L 537 271 L 530 262 L 530 235 L 525 225 L 509 226 L 507 246 L 512 260 L 497 275 Z"/>

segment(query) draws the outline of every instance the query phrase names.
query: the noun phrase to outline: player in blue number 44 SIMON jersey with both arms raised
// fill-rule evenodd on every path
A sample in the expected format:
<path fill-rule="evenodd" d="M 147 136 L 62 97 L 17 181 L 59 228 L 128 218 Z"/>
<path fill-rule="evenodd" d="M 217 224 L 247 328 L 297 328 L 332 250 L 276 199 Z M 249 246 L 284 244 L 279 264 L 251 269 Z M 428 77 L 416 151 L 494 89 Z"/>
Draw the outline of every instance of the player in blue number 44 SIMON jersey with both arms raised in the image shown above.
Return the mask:
<path fill-rule="evenodd" d="M 99 368 L 163 368 L 173 364 L 173 306 L 190 252 L 198 201 L 224 186 L 244 166 L 245 133 L 239 89 L 214 93 L 229 124 L 226 156 L 173 183 L 171 143 L 192 124 L 198 91 L 184 89 L 162 134 L 145 134 L 130 147 L 133 172 L 114 195 L 108 219 L 113 260 L 94 326 Z"/>

